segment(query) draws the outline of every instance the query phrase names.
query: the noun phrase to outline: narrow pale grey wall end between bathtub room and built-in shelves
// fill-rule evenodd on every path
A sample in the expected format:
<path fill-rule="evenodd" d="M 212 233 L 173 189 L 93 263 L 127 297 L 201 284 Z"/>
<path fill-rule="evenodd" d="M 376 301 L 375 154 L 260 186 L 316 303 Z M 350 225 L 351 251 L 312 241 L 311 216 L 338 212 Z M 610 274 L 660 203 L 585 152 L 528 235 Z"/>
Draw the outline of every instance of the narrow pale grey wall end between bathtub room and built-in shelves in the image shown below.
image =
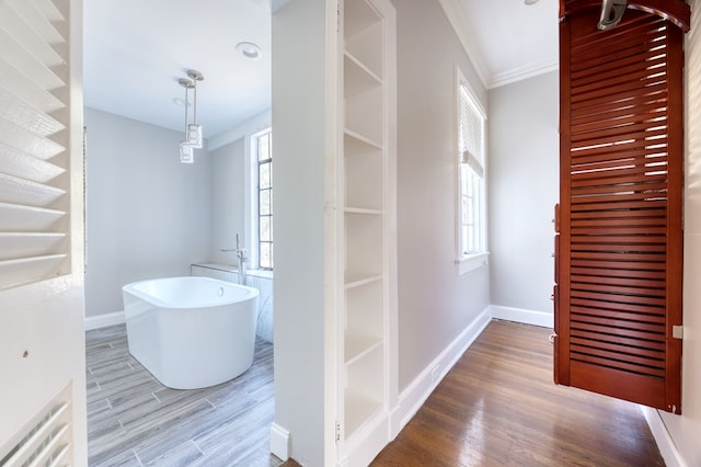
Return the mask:
<path fill-rule="evenodd" d="M 326 14 L 335 4 L 327 11 L 326 3 L 295 0 L 273 14 L 274 428 L 291 434 L 289 455 L 307 466 L 333 463 L 324 449 L 333 436 L 324 357 L 335 357 L 324 342 L 324 181 L 325 57 L 334 49 Z"/>

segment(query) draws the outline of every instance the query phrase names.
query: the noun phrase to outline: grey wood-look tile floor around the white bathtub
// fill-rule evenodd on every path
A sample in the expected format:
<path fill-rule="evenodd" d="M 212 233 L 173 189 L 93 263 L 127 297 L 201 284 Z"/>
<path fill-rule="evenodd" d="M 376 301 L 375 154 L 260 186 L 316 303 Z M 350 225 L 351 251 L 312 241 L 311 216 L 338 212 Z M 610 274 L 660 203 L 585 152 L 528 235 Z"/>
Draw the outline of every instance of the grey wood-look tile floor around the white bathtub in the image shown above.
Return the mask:
<path fill-rule="evenodd" d="M 161 385 L 128 352 L 126 328 L 85 333 L 89 465 L 278 466 L 269 454 L 273 345 L 253 366 L 206 389 Z"/>

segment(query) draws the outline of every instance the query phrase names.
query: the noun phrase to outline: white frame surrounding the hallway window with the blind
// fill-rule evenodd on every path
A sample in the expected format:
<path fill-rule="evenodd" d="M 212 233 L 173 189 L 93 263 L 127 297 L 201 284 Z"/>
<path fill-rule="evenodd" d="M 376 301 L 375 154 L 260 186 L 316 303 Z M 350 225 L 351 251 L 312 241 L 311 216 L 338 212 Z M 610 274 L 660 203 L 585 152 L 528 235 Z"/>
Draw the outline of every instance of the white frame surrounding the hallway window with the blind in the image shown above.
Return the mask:
<path fill-rule="evenodd" d="M 487 150 L 486 150 L 486 128 L 487 128 L 487 115 L 484 106 L 476 99 L 474 91 L 472 90 L 469 81 L 459 67 L 456 67 L 456 132 L 455 132 L 455 163 L 456 163 L 456 263 L 458 264 L 459 274 L 466 274 L 482 265 L 486 264 L 489 249 L 487 249 Z M 481 128 L 481 148 L 479 158 L 463 158 L 463 148 L 461 141 L 462 132 L 462 103 L 463 103 L 463 90 L 467 96 L 467 104 L 478 114 L 480 117 Z M 478 160 L 481 159 L 481 160 Z M 474 167 L 476 163 L 478 167 Z M 481 174 L 478 171 L 481 170 Z M 472 251 L 466 251 L 463 244 L 463 229 L 466 228 L 464 215 L 466 212 L 462 208 L 462 202 L 466 196 L 463 191 L 464 175 L 472 173 L 479 178 L 479 187 L 476 196 L 478 206 L 474 208 L 476 213 L 473 215 L 472 224 L 476 224 L 473 237 L 476 239 L 476 248 Z M 474 198 L 474 196 L 472 196 Z"/>

